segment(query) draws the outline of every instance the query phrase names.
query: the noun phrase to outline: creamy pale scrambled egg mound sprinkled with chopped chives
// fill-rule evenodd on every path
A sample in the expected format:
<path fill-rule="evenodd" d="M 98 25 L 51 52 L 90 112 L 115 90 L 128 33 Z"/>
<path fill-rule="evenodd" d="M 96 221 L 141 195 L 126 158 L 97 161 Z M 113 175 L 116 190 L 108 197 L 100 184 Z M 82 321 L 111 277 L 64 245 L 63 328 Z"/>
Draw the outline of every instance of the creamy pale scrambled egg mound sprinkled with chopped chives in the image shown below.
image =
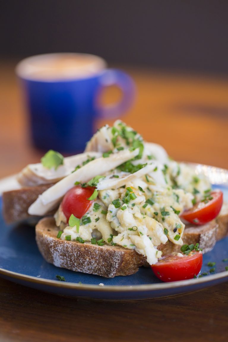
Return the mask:
<path fill-rule="evenodd" d="M 161 257 L 162 252 L 157 249 L 160 244 L 170 240 L 183 245 L 185 224 L 179 216 L 203 198 L 210 183 L 189 166 L 170 161 L 161 146 L 143 142 L 137 132 L 120 121 L 114 128 L 105 126 L 96 133 L 87 149 L 108 150 L 111 154 L 118 153 L 120 147 L 139 148 L 138 157 L 105 174 L 101 164 L 103 177 L 96 184 L 98 197 L 83 216 L 79 229 L 66 226 L 61 206 L 55 215 L 56 224 L 65 223 L 61 239 L 70 235 L 71 240 L 92 242 L 91 239 L 99 238 L 100 245 L 135 250 L 152 265 Z M 107 155 L 107 162 L 106 158 Z"/>

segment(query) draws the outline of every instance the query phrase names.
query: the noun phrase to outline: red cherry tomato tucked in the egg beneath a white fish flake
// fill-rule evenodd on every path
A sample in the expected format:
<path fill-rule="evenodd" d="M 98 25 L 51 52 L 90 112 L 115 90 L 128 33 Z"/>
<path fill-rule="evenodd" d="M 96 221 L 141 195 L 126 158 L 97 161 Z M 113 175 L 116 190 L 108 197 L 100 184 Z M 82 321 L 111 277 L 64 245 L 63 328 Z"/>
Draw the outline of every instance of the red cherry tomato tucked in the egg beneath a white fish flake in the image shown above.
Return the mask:
<path fill-rule="evenodd" d="M 67 222 L 69 221 L 71 214 L 75 215 L 78 219 L 81 219 L 86 211 L 89 210 L 93 201 L 88 200 L 88 198 L 93 192 L 94 187 L 87 186 L 82 188 L 80 185 L 77 185 L 66 193 L 61 206 L 63 213 L 67 218 Z"/>

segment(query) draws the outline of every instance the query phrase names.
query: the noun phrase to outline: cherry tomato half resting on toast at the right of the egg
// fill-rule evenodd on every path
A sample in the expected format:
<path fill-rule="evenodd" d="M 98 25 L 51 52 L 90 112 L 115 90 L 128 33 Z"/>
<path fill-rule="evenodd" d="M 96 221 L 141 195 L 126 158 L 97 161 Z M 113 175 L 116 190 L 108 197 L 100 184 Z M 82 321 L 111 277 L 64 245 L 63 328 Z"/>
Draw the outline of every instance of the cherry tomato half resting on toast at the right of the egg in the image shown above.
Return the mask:
<path fill-rule="evenodd" d="M 204 224 L 216 218 L 223 205 L 223 193 L 220 190 L 213 191 L 207 198 L 209 199 L 184 211 L 182 218 L 195 224 Z"/>

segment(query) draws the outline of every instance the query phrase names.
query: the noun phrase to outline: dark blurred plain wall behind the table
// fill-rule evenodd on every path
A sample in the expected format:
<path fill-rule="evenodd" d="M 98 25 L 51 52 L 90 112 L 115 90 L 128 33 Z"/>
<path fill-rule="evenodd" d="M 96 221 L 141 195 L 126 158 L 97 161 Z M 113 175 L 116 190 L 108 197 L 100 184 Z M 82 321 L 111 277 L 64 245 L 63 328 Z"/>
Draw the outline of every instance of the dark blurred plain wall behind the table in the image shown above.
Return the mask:
<path fill-rule="evenodd" d="M 0 1 L 0 57 L 68 51 L 226 76 L 228 1 Z"/>

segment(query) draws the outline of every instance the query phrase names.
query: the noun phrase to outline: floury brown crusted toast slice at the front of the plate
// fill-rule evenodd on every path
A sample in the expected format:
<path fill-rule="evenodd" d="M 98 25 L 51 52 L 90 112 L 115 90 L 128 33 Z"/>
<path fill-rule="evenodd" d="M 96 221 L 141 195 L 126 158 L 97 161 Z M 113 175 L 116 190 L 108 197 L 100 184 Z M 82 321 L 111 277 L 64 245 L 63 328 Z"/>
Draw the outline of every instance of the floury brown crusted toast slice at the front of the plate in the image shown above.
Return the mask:
<path fill-rule="evenodd" d="M 61 240 L 56 237 L 58 230 L 53 218 L 44 218 L 36 225 L 38 248 L 43 258 L 55 266 L 113 278 L 134 274 L 143 265 L 145 258 L 133 250 Z"/>

